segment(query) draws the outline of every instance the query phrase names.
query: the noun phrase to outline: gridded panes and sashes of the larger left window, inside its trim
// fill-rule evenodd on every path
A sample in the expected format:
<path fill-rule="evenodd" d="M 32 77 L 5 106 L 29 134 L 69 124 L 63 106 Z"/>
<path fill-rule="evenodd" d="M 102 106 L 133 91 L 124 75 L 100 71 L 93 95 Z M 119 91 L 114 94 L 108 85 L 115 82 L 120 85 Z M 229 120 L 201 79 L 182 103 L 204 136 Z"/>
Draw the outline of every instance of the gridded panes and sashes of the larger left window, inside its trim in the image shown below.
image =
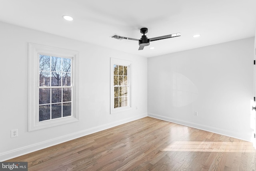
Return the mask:
<path fill-rule="evenodd" d="M 72 115 L 72 59 L 39 54 L 39 121 Z"/>

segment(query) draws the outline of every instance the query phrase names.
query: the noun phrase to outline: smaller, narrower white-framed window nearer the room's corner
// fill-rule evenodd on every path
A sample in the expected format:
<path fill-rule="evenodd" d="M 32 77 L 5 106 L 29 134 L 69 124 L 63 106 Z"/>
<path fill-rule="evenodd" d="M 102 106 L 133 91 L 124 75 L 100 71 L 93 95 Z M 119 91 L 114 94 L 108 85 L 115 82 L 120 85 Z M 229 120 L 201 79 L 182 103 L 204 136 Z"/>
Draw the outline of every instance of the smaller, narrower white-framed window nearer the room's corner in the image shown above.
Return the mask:
<path fill-rule="evenodd" d="M 111 58 L 110 113 L 131 108 L 131 62 Z"/>

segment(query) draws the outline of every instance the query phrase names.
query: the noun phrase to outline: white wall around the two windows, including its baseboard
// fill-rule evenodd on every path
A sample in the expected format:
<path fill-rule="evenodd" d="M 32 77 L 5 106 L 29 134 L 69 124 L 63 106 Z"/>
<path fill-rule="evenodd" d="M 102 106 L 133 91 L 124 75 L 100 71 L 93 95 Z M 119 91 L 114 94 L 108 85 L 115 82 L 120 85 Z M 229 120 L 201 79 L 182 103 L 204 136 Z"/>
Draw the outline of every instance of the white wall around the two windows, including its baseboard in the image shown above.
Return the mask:
<path fill-rule="evenodd" d="M 147 58 L 2 22 L 0 28 L 0 161 L 147 116 Z M 28 42 L 80 52 L 80 121 L 28 132 Z M 110 115 L 111 57 L 133 62 L 137 110 Z"/>

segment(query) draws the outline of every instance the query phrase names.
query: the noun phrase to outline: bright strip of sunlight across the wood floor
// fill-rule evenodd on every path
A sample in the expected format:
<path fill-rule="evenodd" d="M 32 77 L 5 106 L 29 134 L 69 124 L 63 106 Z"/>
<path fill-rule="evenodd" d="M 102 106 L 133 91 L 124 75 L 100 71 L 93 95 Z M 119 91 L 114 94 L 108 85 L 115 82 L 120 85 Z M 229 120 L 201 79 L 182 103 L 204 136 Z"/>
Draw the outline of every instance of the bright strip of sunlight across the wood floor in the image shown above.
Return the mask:
<path fill-rule="evenodd" d="M 162 151 L 252 152 L 250 142 L 175 141 Z"/>

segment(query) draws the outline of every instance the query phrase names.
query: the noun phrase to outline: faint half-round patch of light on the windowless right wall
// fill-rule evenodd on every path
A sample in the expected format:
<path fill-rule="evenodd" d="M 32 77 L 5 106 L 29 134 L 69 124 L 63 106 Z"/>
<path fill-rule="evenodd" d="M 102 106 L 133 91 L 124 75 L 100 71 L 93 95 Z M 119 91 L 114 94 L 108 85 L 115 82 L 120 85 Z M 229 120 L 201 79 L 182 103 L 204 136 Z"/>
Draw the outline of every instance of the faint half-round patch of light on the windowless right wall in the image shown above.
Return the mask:
<path fill-rule="evenodd" d="M 182 107 L 189 105 L 198 98 L 198 89 L 186 76 L 172 73 L 172 105 Z"/>

